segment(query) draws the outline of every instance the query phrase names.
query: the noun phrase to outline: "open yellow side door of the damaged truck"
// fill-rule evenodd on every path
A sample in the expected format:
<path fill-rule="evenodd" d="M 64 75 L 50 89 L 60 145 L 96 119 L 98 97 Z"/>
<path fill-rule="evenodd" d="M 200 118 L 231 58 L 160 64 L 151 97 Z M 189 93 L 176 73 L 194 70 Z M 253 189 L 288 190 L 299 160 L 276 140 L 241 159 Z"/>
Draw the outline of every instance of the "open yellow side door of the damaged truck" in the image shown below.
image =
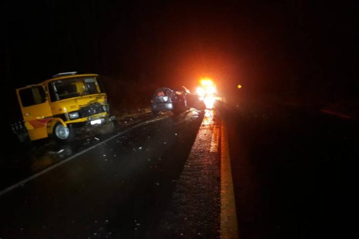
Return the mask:
<path fill-rule="evenodd" d="M 47 137 L 47 118 L 52 117 L 52 112 L 45 85 L 16 89 L 16 93 L 30 140 Z"/>

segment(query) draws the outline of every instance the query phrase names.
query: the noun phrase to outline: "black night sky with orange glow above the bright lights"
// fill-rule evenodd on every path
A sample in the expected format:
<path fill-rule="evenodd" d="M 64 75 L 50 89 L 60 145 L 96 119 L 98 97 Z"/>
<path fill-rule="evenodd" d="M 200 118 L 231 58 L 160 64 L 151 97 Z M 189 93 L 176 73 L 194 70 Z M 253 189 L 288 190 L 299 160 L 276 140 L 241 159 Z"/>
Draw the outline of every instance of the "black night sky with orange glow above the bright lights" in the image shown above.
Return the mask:
<path fill-rule="evenodd" d="M 357 4 L 328 1 L 6 1 L 9 87 L 58 72 L 247 93 L 357 96 Z"/>

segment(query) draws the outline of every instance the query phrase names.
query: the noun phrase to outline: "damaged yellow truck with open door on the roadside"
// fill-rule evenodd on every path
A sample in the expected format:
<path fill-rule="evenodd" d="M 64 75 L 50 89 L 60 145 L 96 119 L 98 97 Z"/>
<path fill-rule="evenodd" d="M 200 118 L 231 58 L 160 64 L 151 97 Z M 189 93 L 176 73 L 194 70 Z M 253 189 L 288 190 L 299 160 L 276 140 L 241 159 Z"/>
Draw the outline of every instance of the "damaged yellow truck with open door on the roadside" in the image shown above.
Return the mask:
<path fill-rule="evenodd" d="M 107 95 L 97 74 L 59 73 L 51 79 L 16 89 L 24 121 L 12 125 L 19 139 L 49 136 L 71 141 L 75 134 L 111 122 Z"/>

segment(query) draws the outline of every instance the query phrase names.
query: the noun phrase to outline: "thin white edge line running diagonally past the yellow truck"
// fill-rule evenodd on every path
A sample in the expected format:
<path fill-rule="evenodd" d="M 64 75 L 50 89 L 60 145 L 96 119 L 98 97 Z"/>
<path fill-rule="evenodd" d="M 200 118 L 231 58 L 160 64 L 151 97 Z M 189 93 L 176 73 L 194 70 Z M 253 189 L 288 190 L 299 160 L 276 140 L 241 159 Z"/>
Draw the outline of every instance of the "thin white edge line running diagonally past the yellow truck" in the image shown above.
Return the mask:
<path fill-rule="evenodd" d="M 153 122 L 156 122 L 156 121 L 159 121 L 159 120 L 163 120 L 163 118 L 155 118 L 154 120 L 144 121 L 144 122 L 139 123 L 139 124 L 137 124 L 137 125 L 135 125 L 135 126 L 132 126 L 132 127 L 129 128 L 129 129 L 126 129 L 125 131 L 119 132 L 119 133 L 117 133 L 117 134 L 115 134 L 115 135 L 113 135 L 113 136 L 107 138 L 107 140 L 104 140 L 104 141 L 102 141 L 102 142 L 99 142 L 99 143 L 97 143 L 97 144 L 95 144 L 95 145 L 93 145 L 93 146 L 91 146 L 91 147 L 89 147 L 89 148 L 87 148 L 87 149 L 85 149 L 85 150 L 83 150 L 83 151 L 81 151 L 81 152 L 78 152 L 78 153 L 76 153 L 76 154 L 74 154 L 74 155 L 72 155 L 72 156 L 66 158 L 65 160 L 63 160 L 63 161 L 61 161 L 61 162 L 58 162 L 58 163 L 56 163 L 56 164 L 54 164 L 54 165 L 52 165 L 52 166 L 50 166 L 50 167 L 48 167 L 48 168 L 46 168 L 46 169 L 44 169 L 44 170 L 38 172 L 38 173 L 33 174 L 32 176 L 29 176 L 29 177 L 25 178 L 24 180 L 22 180 L 22 181 L 20 181 L 20 182 L 18 182 L 18 183 L 16 183 L 16 184 L 13 184 L 13 185 L 11 185 L 11 186 L 9 186 L 9 187 L 7 187 L 7 188 L 1 190 L 1 191 L 0 191 L 0 196 L 4 195 L 5 193 L 7 193 L 7 192 L 9 192 L 9 191 L 11 191 L 11 190 L 13 190 L 13 189 L 15 189 L 15 188 L 21 186 L 21 185 L 24 185 L 25 183 L 27 183 L 27 182 L 33 180 L 34 178 L 36 178 L 36 177 L 38 177 L 38 176 L 43 175 L 44 173 L 46 173 L 46 172 L 48 172 L 48 171 L 50 171 L 50 170 L 52 170 L 52 169 L 54 169 L 54 168 L 57 168 L 58 166 L 61 166 L 61 165 L 65 164 L 65 163 L 69 162 L 70 160 L 73 160 L 75 157 L 77 157 L 77 156 L 79 156 L 79 155 L 81 155 L 81 154 L 84 154 L 84 153 L 90 151 L 91 149 L 96 148 L 97 146 L 100 146 L 100 145 L 102 145 L 102 144 L 105 144 L 106 142 L 109 142 L 110 140 L 113 140 L 113 138 L 118 137 L 119 135 L 122 135 L 122 134 L 124 134 L 124 133 L 127 133 L 128 131 L 133 130 L 133 129 L 139 127 L 139 126 L 142 126 L 142 125 L 145 125 L 145 124 L 149 124 L 149 123 L 153 123 Z"/>

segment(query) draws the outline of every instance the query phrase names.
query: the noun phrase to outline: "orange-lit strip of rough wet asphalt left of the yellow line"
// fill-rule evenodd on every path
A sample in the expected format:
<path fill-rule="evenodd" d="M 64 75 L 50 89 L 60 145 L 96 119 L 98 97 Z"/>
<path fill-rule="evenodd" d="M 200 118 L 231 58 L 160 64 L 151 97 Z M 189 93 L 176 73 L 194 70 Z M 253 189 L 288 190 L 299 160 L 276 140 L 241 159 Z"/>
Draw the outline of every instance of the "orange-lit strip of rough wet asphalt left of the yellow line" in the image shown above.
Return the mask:
<path fill-rule="evenodd" d="M 205 110 L 202 125 L 159 227 L 157 238 L 219 238 L 221 123 Z"/>

